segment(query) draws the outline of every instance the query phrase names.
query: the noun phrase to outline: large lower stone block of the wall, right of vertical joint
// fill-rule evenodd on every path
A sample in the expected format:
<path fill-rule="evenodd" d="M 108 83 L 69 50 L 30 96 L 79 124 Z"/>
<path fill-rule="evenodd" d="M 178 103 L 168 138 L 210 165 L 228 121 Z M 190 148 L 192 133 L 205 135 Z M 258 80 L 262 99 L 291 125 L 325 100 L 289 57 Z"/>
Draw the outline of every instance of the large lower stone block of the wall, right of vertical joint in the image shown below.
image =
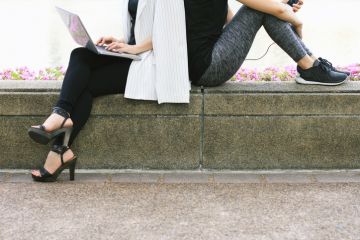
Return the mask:
<path fill-rule="evenodd" d="M 206 117 L 203 167 L 360 167 L 359 117 Z"/>

